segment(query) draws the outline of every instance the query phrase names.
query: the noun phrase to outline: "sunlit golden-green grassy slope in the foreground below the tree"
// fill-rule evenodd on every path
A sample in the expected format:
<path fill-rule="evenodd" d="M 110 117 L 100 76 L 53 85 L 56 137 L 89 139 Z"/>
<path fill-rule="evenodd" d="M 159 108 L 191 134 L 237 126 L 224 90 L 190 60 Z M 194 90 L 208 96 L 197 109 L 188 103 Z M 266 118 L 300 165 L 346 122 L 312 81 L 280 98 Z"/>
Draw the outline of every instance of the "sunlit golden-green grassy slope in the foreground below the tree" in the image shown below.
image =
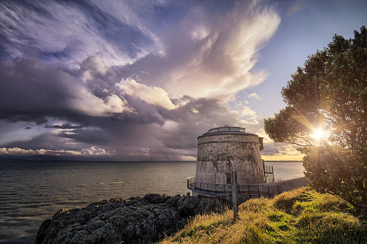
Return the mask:
<path fill-rule="evenodd" d="M 367 244 L 366 219 L 353 207 L 309 187 L 282 193 L 274 199 L 250 199 L 233 211 L 196 216 L 167 243 L 358 243 Z"/>

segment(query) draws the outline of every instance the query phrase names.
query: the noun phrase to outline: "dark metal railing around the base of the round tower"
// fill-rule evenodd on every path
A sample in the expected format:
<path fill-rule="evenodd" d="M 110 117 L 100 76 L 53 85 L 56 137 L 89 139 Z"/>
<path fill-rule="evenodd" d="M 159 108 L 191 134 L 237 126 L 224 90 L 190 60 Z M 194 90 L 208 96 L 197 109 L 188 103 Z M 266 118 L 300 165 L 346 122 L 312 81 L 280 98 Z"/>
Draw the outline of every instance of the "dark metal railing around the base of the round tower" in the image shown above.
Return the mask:
<path fill-rule="evenodd" d="M 187 188 L 205 193 L 226 194 L 232 192 L 230 184 L 197 182 L 195 181 L 195 177 L 187 179 Z M 238 194 L 246 194 L 250 197 L 251 195 L 275 196 L 280 194 L 280 185 L 238 184 Z"/>

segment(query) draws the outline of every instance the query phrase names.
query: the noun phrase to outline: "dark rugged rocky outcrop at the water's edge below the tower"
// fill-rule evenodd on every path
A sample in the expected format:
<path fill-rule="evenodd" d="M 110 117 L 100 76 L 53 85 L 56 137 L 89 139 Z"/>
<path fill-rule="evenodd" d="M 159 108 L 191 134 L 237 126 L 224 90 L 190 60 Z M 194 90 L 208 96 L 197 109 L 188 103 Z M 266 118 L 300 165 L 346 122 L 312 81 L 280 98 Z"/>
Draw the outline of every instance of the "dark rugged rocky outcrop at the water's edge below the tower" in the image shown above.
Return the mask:
<path fill-rule="evenodd" d="M 35 243 L 153 243 L 182 229 L 189 216 L 225 206 L 224 200 L 203 196 L 146 194 L 103 200 L 80 210 L 59 210 L 42 223 Z"/>

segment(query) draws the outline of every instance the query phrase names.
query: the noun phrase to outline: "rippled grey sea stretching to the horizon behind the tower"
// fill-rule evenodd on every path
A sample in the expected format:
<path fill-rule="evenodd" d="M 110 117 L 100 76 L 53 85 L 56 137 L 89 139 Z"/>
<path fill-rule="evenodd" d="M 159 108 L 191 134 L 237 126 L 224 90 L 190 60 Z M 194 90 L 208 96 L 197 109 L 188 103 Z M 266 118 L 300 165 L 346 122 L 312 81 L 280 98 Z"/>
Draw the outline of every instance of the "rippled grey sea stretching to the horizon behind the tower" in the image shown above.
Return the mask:
<path fill-rule="evenodd" d="M 302 177 L 302 163 L 271 162 L 277 179 Z M 0 243 L 34 243 L 62 208 L 115 197 L 186 195 L 196 162 L 0 162 Z"/>

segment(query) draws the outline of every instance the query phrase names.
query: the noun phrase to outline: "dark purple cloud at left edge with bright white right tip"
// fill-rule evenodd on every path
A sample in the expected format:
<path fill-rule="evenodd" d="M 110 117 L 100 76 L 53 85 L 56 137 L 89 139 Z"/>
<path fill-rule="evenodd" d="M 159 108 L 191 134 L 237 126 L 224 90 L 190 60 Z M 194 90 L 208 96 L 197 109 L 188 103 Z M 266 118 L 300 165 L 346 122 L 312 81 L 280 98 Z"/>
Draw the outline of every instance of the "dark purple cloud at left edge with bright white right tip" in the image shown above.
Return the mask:
<path fill-rule="evenodd" d="M 123 96 L 110 89 L 109 77 L 105 77 L 107 82 L 94 79 L 84 83 L 81 75 L 75 74 L 77 71 L 61 70 L 56 65 L 34 59 L 23 58 L 14 63 L 3 61 L 0 74 L 7 93 L 0 98 L 2 115 L 14 114 L 12 106 L 17 108 L 18 115 L 33 117 L 37 114 L 55 116 L 55 111 L 60 116 L 71 116 L 72 112 L 90 116 L 134 112 Z M 99 92 L 102 88 L 105 92 Z"/>

